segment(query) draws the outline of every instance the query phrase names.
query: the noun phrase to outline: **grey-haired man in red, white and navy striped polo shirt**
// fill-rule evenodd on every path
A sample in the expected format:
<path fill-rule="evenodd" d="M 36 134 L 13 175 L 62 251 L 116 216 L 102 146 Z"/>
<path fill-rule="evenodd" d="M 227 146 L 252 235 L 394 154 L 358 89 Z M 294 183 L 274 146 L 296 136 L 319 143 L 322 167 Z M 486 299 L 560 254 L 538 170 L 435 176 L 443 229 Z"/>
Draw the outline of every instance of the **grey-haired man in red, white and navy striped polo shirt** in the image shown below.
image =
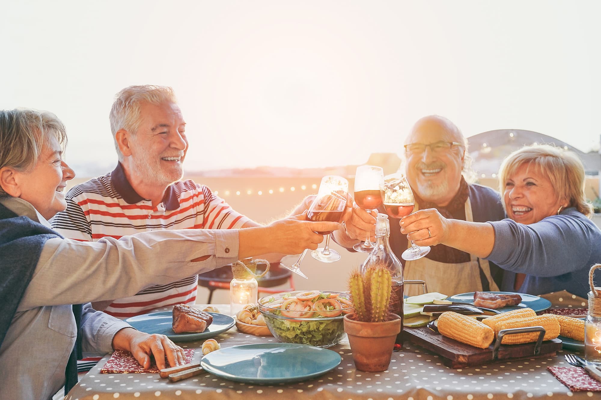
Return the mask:
<path fill-rule="evenodd" d="M 68 238 L 96 241 L 156 229 L 259 226 L 209 187 L 180 181 L 188 140 L 171 88 L 129 86 L 121 90 L 110 120 L 117 168 L 69 190 L 67 210 L 51 221 L 56 231 Z M 125 319 L 162 306 L 194 303 L 197 280 L 191 276 L 151 286 L 132 297 L 95 303 L 94 308 Z"/>

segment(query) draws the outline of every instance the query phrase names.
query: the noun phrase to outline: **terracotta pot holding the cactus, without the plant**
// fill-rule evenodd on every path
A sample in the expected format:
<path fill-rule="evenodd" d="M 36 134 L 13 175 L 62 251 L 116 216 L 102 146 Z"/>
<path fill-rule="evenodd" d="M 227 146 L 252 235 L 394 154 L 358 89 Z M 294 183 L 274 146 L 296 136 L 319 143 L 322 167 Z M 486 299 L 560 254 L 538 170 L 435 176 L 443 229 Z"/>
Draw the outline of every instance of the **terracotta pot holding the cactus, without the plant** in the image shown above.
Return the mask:
<path fill-rule="evenodd" d="M 355 314 L 344 316 L 344 332 L 349 336 L 355 367 L 359 371 L 382 372 L 388 369 L 397 334 L 401 332 L 401 317 L 382 323 L 353 320 Z"/>

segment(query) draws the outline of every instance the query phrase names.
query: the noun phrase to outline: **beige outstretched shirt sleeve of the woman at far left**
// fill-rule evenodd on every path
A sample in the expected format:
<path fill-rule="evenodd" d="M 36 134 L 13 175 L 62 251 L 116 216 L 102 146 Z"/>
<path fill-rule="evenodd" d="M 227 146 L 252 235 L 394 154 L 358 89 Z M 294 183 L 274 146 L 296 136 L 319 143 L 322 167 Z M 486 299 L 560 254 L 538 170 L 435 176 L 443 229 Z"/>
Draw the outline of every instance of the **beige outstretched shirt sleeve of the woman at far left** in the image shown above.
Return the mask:
<path fill-rule="evenodd" d="M 238 259 L 237 229 L 142 232 L 97 242 L 46 241 L 18 311 L 128 297 Z M 209 256 L 209 257 L 206 257 Z M 192 262 L 192 259 L 206 258 Z"/>

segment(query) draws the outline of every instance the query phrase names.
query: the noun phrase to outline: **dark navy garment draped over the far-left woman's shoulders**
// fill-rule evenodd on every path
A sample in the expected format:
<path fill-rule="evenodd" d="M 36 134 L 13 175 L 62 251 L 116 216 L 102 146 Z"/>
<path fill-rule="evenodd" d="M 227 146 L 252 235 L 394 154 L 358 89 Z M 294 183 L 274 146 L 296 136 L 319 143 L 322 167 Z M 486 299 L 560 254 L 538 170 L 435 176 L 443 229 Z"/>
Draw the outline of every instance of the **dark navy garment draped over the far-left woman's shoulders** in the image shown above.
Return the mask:
<path fill-rule="evenodd" d="M 17 216 L 0 204 L 0 345 L 10 328 L 17 306 L 31 281 L 46 240 L 60 237 L 41 223 Z M 73 305 L 78 337 L 65 371 L 65 395 L 77 383 L 77 359 L 81 358 L 82 306 Z"/>

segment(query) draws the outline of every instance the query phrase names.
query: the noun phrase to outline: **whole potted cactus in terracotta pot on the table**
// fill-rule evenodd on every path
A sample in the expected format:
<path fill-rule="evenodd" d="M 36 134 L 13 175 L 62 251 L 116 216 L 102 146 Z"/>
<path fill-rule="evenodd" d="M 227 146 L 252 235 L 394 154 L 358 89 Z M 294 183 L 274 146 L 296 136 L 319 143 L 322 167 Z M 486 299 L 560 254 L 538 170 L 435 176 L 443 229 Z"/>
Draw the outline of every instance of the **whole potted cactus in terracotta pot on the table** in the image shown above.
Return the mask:
<path fill-rule="evenodd" d="M 391 300 L 398 300 L 391 299 L 391 273 L 383 264 L 367 268 L 364 274 L 354 271 L 349 290 L 355 312 L 344 316 L 344 332 L 349 336 L 355 366 L 360 371 L 386 371 L 401 332 L 401 318 L 388 312 Z"/>

